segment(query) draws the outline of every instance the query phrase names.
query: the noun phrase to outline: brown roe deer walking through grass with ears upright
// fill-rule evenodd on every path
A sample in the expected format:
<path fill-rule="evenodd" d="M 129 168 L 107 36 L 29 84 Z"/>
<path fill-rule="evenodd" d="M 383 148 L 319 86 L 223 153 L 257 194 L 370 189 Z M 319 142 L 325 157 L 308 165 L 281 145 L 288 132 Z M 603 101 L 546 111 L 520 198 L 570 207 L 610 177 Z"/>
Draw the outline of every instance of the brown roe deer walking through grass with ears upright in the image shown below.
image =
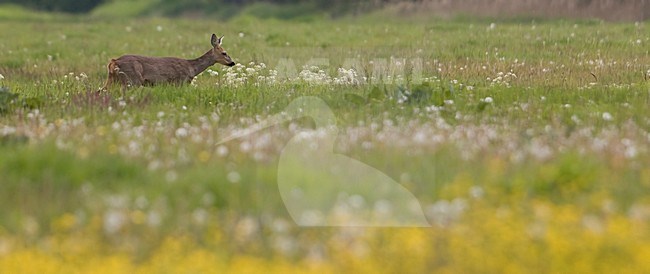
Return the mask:
<path fill-rule="evenodd" d="M 123 55 L 111 59 L 107 66 L 108 79 L 100 91 L 107 91 L 115 82 L 120 83 L 122 91 L 130 86 L 190 83 L 196 75 L 215 63 L 234 66 L 235 62 L 221 47 L 222 40 L 223 36 L 217 38 L 217 35 L 212 34 L 212 49 L 191 60 L 139 55 Z"/>

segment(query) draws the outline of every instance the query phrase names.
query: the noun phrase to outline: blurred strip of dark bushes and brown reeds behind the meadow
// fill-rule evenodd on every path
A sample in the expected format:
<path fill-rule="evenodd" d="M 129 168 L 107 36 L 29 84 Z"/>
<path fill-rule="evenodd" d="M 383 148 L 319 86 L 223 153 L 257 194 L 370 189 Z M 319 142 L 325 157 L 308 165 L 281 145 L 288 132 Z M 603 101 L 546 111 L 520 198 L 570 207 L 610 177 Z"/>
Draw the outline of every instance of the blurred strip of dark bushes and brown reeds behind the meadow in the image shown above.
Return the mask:
<path fill-rule="evenodd" d="M 0 0 L 30 9 L 114 16 L 213 16 L 261 18 L 340 17 L 376 9 L 403 16 L 467 14 L 488 17 L 565 17 L 641 21 L 650 0 Z"/>

